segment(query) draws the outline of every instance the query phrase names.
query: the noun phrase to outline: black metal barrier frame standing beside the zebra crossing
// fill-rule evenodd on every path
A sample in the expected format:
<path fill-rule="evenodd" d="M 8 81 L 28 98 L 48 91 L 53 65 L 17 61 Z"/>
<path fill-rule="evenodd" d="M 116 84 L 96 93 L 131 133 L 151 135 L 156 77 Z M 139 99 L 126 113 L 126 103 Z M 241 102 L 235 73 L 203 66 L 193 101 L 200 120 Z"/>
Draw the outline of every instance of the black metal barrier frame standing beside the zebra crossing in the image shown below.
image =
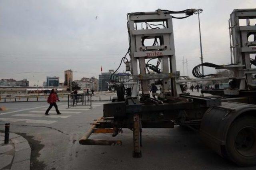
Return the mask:
<path fill-rule="evenodd" d="M 89 105 L 89 101 L 90 101 L 90 109 L 91 109 L 92 95 L 88 93 L 68 95 L 68 108 L 70 106 L 77 105 L 78 103 L 81 103 L 82 105 L 86 105 L 86 97 L 87 97 L 87 105 Z"/>

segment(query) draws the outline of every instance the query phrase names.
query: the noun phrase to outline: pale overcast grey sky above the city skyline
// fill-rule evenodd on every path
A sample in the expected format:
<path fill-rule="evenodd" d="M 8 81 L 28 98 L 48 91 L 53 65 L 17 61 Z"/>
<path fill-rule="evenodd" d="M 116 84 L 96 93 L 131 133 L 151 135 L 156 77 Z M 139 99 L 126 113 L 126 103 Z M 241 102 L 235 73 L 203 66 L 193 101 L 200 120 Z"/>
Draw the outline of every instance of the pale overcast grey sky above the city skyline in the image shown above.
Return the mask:
<path fill-rule="evenodd" d="M 202 8 L 200 14 L 204 62 L 230 63 L 228 19 L 238 8 L 256 8 L 255 0 L 0 0 L 0 79 L 28 79 L 41 86 L 46 76 L 64 81 L 98 78 L 116 69 L 129 42 L 126 14 Z M 97 19 L 96 19 L 97 16 Z M 251 23 L 252 24 L 252 23 Z M 254 23 L 255 24 L 255 23 Z M 173 19 L 177 70 L 188 75 L 200 63 L 198 16 Z M 119 69 L 125 70 L 125 65 Z M 205 69 L 205 73 L 215 73 Z M 186 75 L 186 66 L 185 66 Z"/>

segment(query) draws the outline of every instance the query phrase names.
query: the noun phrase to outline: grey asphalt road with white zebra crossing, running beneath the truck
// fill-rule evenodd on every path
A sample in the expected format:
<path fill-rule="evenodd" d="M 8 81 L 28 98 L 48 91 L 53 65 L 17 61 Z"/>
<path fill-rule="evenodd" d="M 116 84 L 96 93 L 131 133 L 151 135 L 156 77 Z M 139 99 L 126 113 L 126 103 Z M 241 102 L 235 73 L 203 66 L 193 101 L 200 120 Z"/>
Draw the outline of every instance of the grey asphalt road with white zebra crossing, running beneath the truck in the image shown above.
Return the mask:
<path fill-rule="evenodd" d="M 195 93 L 193 92 L 193 95 Z M 200 95 L 200 93 L 196 94 Z M 80 145 L 79 139 L 91 127 L 93 119 L 102 117 L 103 103 L 67 109 L 58 102 L 62 115 L 54 108 L 44 116 L 46 102 L 0 103 L 8 110 L 0 111 L 0 131 L 9 122 L 10 132 L 23 136 L 31 147 L 31 170 L 255 170 L 228 162 L 204 146 L 198 132 L 184 127 L 143 129 L 142 158 L 132 158 L 132 131 L 122 134 L 92 134 L 95 139 L 120 139 L 121 146 Z M 2 162 L 2 160 L 0 160 Z"/>

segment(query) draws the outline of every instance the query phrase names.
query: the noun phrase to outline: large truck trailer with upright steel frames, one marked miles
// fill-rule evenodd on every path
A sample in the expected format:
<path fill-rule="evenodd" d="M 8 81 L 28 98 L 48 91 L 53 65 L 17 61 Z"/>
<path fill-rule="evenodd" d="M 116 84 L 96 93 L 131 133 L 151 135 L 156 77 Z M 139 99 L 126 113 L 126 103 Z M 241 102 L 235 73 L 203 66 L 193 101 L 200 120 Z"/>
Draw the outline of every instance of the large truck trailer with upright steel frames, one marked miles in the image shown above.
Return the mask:
<path fill-rule="evenodd" d="M 188 9 L 180 13 L 188 14 L 193 11 L 193 9 Z M 133 86 L 132 94 L 123 100 L 115 98 L 111 103 L 104 104 L 103 117 L 92 123 L 92 128 L 80 139 L 80 144 L 122 144 L 121 140 L 94 140 L 89 137 L 92 133 L 112 133 L 114 137 L 122 132 L 122 128 L 129 128 L 133 131 L 133 157 L 141 157 L 143 128 L 173 128 L 174 125 L 183 125 L 199 128 L 202 139 L 221 156 L 242 166 L 256 165 L 256 150 L 254 150 L 256 148 L 256 130 L 250 134 L 255 138 L 254 145 L 250 150 L 248 149 L 250 156 L 247 154 L 244 158 L 241 153 L 246 153 L 246 151 L 240 152 L 236 148 L 230 148 L 230 133 L 233 132 L 232 135 L 239 136 L 239 132 L 237 134 L 234 132 L 234 127 L 241 126 L 241 123 L 237 122 L 243 120 L 253 122 L 251 124 L 245 122 L 242 129 L 256 126 L 256 91 L 245 89 L 246 85 L 250 85 L 251 73 L 254 73 L 248 64 L 248 60 L 250 60 L 248 54 L 255 53 L 251 45 L 256 45 L 256 42 L 248 45 L 244 33 L 246 32 L 248 36 L 256 26 L 241 27 L 237 24 L 239 18 L 256 18 L 256 10 L 234 10 L 231 14 L 230 29 L 232 30 L 233 44 L 240 41 L 242 43 L 232 46 L 236 65 L 222 68 L 234 71 L 235 77 L 205 78 L 200 81 L 232 79 L 237 83 L 238 88 L 202 91 L 202 93 L 214 94 L 215 96 L 212 97 L 199 97 L 181 92 L 178 83 L 198 81 L 198 79 L 176 80 L 179 77 L 179 72 L 176 70 L 172 16 L 170 14 L 170 11 L 160 9 L 155 12 L 128 14 L 130 63 L 133 77 L 133 82 L 130 82 Z M 236 20 L 236 24 L 234 24 L 234 20 Z M 145 22 L 163 22 L 165 28 L 138 30 L 136 24 Z M 155 37 L 160 39 L 160 45 L 143 45 L 142 39 Z M 241 37 L 242 40 L 239 40 L 238 37 Z M 145 59 L 157 57 L 162 57 L 162 73 L 147 74 Z M 150 79 L 162 80 L 162 92 L 158 99 L 153 99 L 149 95 L 148 80 Z M 142 94 L 138 93 L 138 81 L 142 85 Z M 231 143 L 235 143 L 235 141 L 231 141 Z M 232 149 L 233 151 L 231 151 Z"/>

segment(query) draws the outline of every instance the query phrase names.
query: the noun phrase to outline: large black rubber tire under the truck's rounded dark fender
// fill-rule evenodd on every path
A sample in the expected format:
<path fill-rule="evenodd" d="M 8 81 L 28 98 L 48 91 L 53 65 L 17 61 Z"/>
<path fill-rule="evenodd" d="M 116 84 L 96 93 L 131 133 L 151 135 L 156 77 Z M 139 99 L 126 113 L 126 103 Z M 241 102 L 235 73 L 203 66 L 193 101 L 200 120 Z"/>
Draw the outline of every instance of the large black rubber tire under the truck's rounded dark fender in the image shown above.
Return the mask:
<path fill-rule="evenodd" d="M 226 154 L 240 166 L 256 165 L 255 117 L 241 117 L 232 123 L 226 138 Z"/>

